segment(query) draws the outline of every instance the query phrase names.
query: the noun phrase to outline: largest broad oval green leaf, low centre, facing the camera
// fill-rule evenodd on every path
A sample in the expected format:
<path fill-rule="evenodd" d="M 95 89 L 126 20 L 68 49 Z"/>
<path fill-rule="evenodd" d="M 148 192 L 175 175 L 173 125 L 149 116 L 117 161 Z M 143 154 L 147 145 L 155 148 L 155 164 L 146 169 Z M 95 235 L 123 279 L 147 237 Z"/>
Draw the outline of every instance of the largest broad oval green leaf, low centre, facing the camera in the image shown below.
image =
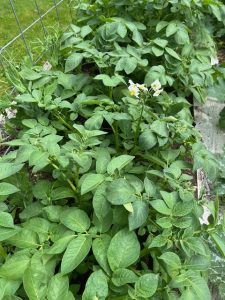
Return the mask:
<path fill-rule="evenodd" d="M 140 244 L 137 236 L 128 229 L 122 229 L 114 235 L 107 252 L 108 262 L 113 271 L 132 265 L 138 260 L 139 255 Z"/>

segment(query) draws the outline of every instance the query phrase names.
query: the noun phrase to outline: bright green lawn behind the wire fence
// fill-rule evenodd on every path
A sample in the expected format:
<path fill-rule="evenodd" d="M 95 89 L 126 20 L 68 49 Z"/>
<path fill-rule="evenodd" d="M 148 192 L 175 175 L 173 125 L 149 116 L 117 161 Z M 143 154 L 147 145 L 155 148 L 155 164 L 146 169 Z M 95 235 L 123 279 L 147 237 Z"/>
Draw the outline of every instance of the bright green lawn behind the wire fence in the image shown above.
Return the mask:
<path fill-rule="evenodd" d="M 43 18 L 43 23 L 47 32 L 47 35 L 53 34 L 64 30 L 72 22 L 72 13 L 69 5 L 69 1 L 65 0 L 58 5 L 59 19 L 57 18 L 56 10 L 53 9 L 48 15 Z M 59 0 L 55 0 L 59 2 Z M 27 26 L 33 23 L 38 17 L 38 11 L 35 7 L 33 0 L 13 0 L 20 25 L 24 30 Z M 44 14 L 54 4 L 53 0 L 37 0 L 37 4 L 40 7 L 41 14 Z M 17 36 L 19 28 L 16 23 L 12 8 L 8 0 L 0 0 L 0 48 L 6 45 L 10 40 Z M 41 43 L 45 39 L 45 34 L 42 29 L 41 23 L 36 23 L 25 34 L 30 52 L 32 53 L 33 60 L 38 58 L 41 50 Z M 18 38 L 11 46 L 3 52 L 3 55 L 7 56 L 11 61 L 18 63 L 22 58 L 27 55 L 26 48 L 23 40 Z M 2 57 L 0 56 L 0 59 Z M 3 69 L 0 68 L 0 97 L 9 91 L 10 87 L 4 78 Z"/>

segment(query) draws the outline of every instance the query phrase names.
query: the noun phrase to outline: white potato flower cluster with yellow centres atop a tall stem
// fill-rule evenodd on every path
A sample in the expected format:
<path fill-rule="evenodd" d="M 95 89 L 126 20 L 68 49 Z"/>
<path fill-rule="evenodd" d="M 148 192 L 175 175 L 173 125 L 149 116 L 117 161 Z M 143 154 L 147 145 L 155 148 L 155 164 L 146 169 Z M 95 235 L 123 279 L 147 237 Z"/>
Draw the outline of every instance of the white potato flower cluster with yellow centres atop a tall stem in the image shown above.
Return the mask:
<path fill-rule="evenodd" d="M 136 98 L 139 98 L 141 92 L 146 93 L 150 92 L 151 90 L 154 92 L 153 96 L 158 97 L 163 91 L 161 87 L 162 85 L 158 79 L 151 84 L 151 88 L 149 90 L 145 84 L 134 83 L 132 80 L 129 80 L 128 90 L 130 92 L 130 96 L 134 96 Z"/>

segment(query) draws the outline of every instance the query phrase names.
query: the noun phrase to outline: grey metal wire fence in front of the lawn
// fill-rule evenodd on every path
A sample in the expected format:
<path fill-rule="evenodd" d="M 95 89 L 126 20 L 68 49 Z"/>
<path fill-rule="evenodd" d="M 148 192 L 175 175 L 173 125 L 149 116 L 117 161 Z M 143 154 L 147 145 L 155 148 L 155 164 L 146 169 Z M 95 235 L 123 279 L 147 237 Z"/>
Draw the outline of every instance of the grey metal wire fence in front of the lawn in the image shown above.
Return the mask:
<path fill-rule="evenodd" d="M 23 46 L 25 48 L 26 54 L 30 57 L 31 61 L 33 61 L 33 57 L 32 57 L 32 52 L 29 46 L 29 42 L 25 36 L 25 33 L 27 33 L 29 30 L 31 30 L 36 24 L 40 24 L 42 33 L 45 37 L 47 37 L 47 29 L 46 29 L 46 25 L 44 23 L 44 18 L 49 15 L 50 13 L 55 11 L 55 20 L 58 23 L 59 27 L 60 27 L 60 10 L 59 7 L 63 4 L 66 3 L 69 7 L 69 16 L 67 16 L 67 20 L 68 20 L 68 25 L 69 23 L 71 23 L 73 21 L 73 16 L 72 16 L 72 7 L 71 7 L 71 0 L 45 0 L 46 2 L 51 2 L 52 5 L 50 8 L 48 8 L 44 13 L 41 13 L 41 7 L 40 4 L 37 0 L 28 0 L 33 1 L 34 4 L 34 8 L 36 10 L 37 16 L 38 18 L 35 19 L 29 26 L 27 26 L 26 28 L 23 28 L 21 25 L 21 20 L 20 17 L 18 15 L 17 9 L 16 9 L 16 5 L 15 5 L 15 0 L 8 0 L 9 6 L 11 8 L 11 13 L 13 14 L 15 21 L 16 21 L 16 25 L 17 25 L 17 29 L 19 34 L 15 35 L 11 40 L 9 40 L 5 45 L 0 45 L 0 59 L 1 59 L 1 55 L 3 55 L 6 50 L 12 46 L 17 40 L 21 39 L 21 41 L 23 42 Z M 26 2 L 25 2 L 26 3 Z"/>

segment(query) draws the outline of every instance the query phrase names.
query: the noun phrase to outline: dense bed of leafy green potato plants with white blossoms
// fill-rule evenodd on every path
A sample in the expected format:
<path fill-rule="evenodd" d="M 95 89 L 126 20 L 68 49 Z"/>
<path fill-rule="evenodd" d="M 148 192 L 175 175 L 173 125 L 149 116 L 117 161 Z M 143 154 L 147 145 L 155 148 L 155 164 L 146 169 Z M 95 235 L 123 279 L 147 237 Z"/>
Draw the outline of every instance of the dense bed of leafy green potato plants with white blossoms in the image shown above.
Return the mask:
<path fill-rule="evenodd" d="M 193 175 L 213 181 L 218 163 L 185 98 L 215 73 L 217 6 L 199 2 L 79 3 L 59 64 L 8 70 L 0 299 L 211 299 L 206 240 L 225 256 L 224 222 L 218 201 L 200 222 Z"/>

